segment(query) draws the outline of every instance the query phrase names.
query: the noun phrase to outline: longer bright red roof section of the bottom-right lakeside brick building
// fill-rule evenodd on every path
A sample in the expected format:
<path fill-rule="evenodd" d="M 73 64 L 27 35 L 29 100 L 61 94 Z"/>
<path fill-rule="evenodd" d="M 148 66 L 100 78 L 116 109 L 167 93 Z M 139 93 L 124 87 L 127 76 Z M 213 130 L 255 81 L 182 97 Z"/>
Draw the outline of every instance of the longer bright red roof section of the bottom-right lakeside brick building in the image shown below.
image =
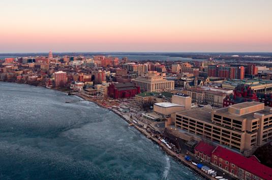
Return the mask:
<path fill-rule="evenodd" d="M 218 146 L 213 155 L 216 155 L 236 166 L 255 174 L 263 179 L 272 179 L 272 168 L 269 168 L 253 158 L 246 158 L 238 153 L 234 153 L 226 148 Z"/>

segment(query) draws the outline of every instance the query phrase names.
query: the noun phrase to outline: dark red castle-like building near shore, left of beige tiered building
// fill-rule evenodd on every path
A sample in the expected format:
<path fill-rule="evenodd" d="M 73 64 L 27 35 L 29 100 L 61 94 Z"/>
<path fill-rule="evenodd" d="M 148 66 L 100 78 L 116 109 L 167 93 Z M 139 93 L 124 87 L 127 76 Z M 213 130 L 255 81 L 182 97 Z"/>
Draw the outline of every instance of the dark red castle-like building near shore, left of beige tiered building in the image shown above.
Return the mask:
<path fill-rule="evenodd" d="M 108 87 L 108 97 L 114 99 L 130 98 L 139 93 L 140 87 L 135 86 L 133 83 L 111 83 Z"/>

